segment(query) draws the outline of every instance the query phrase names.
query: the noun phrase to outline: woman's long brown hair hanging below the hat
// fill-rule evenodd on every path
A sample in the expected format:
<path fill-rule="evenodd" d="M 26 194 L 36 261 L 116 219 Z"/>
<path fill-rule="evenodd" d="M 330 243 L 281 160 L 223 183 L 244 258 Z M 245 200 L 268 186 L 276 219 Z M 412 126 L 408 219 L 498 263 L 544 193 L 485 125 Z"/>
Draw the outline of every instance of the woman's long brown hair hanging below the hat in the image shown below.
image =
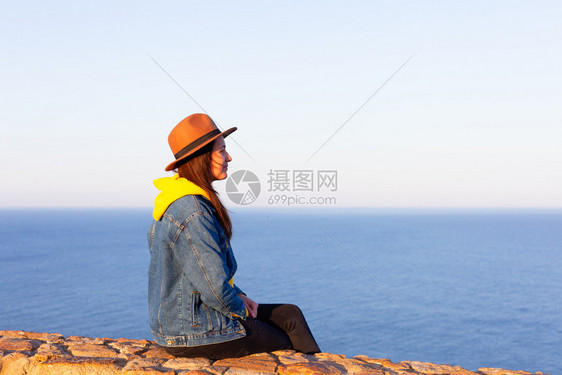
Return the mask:
<path fill-rule="evenodd" d="M 215 210 L 217 210 L 217 219 L 224 233 L 230 239 L 232 237 L 232 222 L 227 209 L 223 206 L 218 193 L 212 185 L 214 180 L 213 173 L 211 172 L 213 144 L 214 142 L 205 145 L 195 152 L 192 157 L 187 158 L 186 162 L 177 166 L 177 172 L 180 177 L 188 179 L 209 194 L 211 203 Z"/>

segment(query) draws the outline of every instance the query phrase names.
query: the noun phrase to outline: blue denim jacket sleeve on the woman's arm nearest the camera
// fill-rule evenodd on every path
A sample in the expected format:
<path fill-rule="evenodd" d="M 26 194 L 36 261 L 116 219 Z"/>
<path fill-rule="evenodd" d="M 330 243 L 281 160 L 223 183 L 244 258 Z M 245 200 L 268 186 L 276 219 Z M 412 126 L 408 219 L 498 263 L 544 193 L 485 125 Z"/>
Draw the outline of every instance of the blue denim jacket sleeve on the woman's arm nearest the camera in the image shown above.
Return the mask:
<path fill-rule="evenodd" d="M 195 214 L 178 236 L 173 251 L 205 305 L 231 319 L 245 317 L 244 302 L 228 283 L 231 270 L 216 225 L 210 214 Z"/>

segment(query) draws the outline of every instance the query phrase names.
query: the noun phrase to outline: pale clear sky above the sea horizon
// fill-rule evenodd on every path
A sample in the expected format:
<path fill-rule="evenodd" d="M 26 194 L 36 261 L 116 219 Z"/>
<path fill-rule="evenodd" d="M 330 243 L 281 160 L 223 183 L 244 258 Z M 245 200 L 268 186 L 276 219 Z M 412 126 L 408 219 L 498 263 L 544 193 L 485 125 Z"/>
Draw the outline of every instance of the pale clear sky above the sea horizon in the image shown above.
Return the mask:
<path fill-rule="evenodd" d="M 340 206 L 562 207 L 561 19 L 559 1 L 2 2 L 0 207 L 151 206 L 169 131 L 202 111 L 151 57 L 238 126 L 230 170 L 264 190 L 269 170 L 336 170 Z"/>

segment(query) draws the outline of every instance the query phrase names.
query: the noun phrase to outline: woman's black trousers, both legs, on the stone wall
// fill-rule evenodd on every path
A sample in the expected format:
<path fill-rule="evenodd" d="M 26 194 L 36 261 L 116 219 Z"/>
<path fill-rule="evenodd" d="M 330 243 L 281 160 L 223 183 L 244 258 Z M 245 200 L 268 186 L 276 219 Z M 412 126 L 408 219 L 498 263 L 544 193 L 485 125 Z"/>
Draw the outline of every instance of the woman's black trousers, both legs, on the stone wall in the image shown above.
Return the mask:
<path fill-rule="evenodd" d="M 299 352 L 319 353 L 320 348 L 308 328 L 298 306 L 290 304 L 263 304 L 257 318 L 241 321 L 246 336 L 233 341 L 201 346 L 170 346 L 164 349 L 176 357 L 205 357 L 223 359 L 275 350 L 294 349 Z"/>

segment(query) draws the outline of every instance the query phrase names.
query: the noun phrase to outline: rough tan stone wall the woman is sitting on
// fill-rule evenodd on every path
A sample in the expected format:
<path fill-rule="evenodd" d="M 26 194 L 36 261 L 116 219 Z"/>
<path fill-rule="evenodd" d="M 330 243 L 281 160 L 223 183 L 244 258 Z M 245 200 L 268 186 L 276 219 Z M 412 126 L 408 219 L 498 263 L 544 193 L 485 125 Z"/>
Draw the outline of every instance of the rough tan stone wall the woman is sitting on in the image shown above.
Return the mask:
<path fill-rule="evenodd" d="M 0 375 L 532 375 L 525 371 L 458 366 L 340 354 L 294 351 L 218 361 L 175 358 L 148 340 L 63 337 L 57 333 L 0 331 Z M 537 372 L 536 375 L 542 374 Z"/>

